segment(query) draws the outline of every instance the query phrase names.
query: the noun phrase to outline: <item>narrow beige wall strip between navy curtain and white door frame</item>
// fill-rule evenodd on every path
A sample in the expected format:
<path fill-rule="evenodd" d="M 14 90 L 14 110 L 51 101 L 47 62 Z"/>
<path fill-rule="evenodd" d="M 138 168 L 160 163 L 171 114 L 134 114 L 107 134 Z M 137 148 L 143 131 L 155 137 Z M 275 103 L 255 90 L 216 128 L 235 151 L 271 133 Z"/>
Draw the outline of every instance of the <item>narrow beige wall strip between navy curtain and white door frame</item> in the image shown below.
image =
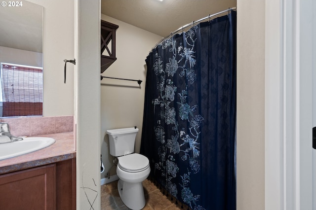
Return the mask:
<path fill-rule="evenodd" d="M 265 209 L 265 0 L 237 0 L 237 210 Z"/>

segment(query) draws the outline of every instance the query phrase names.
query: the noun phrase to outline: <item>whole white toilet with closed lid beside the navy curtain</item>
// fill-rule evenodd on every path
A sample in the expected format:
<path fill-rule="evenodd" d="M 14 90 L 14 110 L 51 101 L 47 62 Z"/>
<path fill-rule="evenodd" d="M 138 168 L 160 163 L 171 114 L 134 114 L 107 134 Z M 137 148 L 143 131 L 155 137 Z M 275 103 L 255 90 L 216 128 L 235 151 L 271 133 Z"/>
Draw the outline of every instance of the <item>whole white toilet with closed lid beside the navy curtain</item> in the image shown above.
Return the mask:
<path fill-rule="evenodd" d="M 141 210 L 145 207 L 143 181 L 150 173 L 149 160 L 144 155 L 134 153 L 138 128 L 107 130 L 110 154 L 118 158 L 118 194 L 126 207 Z"/>

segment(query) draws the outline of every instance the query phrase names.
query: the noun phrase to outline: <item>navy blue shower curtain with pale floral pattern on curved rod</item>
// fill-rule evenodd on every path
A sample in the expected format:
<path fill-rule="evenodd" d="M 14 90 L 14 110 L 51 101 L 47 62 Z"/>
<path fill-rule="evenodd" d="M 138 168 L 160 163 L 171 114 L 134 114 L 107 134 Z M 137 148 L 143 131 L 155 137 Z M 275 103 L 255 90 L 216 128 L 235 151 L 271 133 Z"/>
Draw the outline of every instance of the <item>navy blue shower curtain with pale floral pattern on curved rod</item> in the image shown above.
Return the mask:
<path fill-rule="evenodd" d="M 235 210 L 236 12 L 164 40 L 146 64 L 151 177 L 193 210 Z"/>

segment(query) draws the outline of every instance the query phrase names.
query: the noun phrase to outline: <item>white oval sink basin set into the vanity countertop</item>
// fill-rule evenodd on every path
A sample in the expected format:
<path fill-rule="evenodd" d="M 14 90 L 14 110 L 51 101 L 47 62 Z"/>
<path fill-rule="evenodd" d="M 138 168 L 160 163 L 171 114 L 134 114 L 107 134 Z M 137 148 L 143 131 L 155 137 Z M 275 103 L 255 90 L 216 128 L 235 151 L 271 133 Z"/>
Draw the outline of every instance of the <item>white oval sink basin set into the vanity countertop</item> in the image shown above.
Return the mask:
<path fill-rule="evenodd" d="M 55 140 L 47 137 L 26 137 L 20 141 L 0 143 L 0 160 L 34 152 L 53 143 Z"/>

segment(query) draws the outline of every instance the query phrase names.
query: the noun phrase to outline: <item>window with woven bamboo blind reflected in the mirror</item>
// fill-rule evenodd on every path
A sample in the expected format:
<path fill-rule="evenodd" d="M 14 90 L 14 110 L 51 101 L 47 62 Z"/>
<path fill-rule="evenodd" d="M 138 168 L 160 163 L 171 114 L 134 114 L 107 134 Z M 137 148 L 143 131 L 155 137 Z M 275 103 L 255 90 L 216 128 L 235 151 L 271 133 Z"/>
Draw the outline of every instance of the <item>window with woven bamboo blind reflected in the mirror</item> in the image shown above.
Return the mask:
<path fill-rule="evenodd" d="M 42 115 L 42 69 L 2 64 L 2 116 Z"/>

